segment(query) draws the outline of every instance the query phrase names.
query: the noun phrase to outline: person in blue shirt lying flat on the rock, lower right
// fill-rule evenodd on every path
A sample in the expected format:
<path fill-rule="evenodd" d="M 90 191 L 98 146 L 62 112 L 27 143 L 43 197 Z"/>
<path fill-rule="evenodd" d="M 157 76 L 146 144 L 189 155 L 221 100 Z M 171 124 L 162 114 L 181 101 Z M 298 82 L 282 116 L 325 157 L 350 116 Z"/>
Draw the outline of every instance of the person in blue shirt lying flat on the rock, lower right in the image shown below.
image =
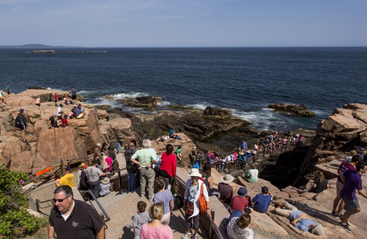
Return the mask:
<path fill-rule="evenodd" d="M 288 217 L 291 220 L 291 224 L 297 229 L 310 232 L 318 236 L 324 234 L 322 225 L 310 220 L 305 213 L 298 211 L 297 207 L 289 204 L 288 202 L 278 202 L 275 200 L 276 197 L 273 201 L 274 205 L 276 206 L 274 212 L 277 215 Z"/>

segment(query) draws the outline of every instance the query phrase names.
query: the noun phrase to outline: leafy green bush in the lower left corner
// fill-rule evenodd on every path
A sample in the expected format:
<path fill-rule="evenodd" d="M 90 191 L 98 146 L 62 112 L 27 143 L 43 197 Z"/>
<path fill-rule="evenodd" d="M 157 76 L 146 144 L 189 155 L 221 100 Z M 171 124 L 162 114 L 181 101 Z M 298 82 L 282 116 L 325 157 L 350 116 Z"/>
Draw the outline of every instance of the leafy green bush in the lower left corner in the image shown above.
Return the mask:
<path fill-rule="evenodd" d="M 30 215 L 28 198 L 22 193 L 27 174 L 13 172 L 0 164 L 0 238 L 20 238 L 36 232 L 40 222 Z"/>

